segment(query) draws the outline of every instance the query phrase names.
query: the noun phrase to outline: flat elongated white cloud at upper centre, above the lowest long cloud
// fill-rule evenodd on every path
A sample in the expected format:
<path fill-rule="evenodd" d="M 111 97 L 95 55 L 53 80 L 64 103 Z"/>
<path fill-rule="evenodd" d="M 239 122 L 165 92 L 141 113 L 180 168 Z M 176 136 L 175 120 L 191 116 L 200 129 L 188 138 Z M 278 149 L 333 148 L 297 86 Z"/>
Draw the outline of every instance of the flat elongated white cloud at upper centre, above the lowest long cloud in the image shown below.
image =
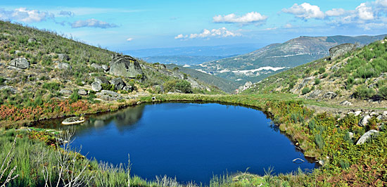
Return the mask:
<path fill-rule="evenodd" d="M 266 15 L 261 15 L 257 12 L 250 12 L 246 13 L 245 15 L 238 16 L 234 13 L 231 13 L 229 15 L 215 15 L 212 18 L 213 22 L 224 22 L 224 23 L 241 23 L 241 24 L 248 24 L 253 22 L 265 22 L 267 20 Z"/>

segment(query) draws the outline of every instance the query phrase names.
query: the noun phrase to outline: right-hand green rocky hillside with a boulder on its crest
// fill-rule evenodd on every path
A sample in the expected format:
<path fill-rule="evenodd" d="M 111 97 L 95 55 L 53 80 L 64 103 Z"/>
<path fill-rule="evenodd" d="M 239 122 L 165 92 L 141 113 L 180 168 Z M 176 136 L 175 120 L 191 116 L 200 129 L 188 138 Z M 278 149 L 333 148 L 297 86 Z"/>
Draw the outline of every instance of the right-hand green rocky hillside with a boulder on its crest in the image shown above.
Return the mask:
<path fill-rule="evenodd" d="M 328 58 L 294 67 L 253 84 L 243 93 L 294 93 L 350 108 L 387 107 L 387 39 L 355 49 L 343 44 Z"/>

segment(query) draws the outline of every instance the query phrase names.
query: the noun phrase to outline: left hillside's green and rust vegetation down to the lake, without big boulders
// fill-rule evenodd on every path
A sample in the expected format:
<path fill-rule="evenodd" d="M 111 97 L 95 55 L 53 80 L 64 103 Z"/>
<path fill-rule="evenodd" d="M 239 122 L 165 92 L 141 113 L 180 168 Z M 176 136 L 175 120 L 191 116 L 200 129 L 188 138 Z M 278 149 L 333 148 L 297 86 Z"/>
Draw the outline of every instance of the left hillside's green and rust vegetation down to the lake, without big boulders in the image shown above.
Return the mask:
<path fill-rule="evenodd" d="M 222 93 L 189 75 L 143 60 L 137 60 L 143 75 L 110 75 L 102 65 L 108 67 L 115 52 L 10 22 L 0 21 L 0 49 L 0 121 L 88 112 L 86 108 L 91 110 L 95 103 L 124 102 L 149 93 Z M 24 58 L 28 66 L 12 65 L 13 60 Z M 115 93 L 101 96 L 91 86 L 98 77 L 108 81 L 122 78 L 131 89 L 119 90 L 113 84 L 105 84 L 102 89 Z"/>

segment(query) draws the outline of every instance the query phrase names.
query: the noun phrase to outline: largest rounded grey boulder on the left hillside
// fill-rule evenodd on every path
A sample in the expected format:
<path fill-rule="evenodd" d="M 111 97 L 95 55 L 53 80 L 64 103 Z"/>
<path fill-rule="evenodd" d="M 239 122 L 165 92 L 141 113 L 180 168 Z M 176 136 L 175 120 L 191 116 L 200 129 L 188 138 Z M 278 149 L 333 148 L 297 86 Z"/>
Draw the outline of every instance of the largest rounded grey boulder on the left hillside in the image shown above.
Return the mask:
<path fill-rule="evenodd" d="M 137 60 L 131 56 L 116 55 L 110 61 L 109 73 L 119 77 L 135 78 L 142 75 L 142 69 Z"/>

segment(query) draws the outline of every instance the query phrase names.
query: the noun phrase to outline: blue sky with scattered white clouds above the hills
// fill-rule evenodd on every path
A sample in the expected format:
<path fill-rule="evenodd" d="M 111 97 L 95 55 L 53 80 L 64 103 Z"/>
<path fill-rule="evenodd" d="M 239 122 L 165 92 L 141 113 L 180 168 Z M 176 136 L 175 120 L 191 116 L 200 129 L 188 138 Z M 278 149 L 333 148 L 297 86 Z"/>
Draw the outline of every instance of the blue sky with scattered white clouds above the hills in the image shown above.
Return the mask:
<path fill-rule="evenodd" d="M 2 1 L 0 19 L 114 51 L 387 34 L 376 1 Z"/>

